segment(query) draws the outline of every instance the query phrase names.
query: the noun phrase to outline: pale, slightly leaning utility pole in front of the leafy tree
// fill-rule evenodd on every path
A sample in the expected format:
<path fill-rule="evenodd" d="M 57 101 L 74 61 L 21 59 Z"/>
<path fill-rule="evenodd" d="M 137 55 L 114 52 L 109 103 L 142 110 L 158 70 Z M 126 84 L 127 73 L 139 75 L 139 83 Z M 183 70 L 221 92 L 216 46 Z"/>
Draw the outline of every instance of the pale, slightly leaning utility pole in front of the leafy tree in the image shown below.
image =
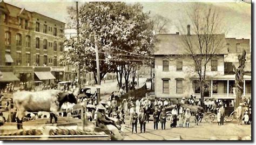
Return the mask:
<path fill-rule="evenodd" d="M 96 53 L 96 66 L 97 66 L 97 82 L 98 82 L 98 87 L 100 87 L 100 74 L 99 74 L 99 52 L 98 52 L 98 38 L 94 36 L 95 39 L 95 53 Z M 97 101 L 100 101 L 100 88 L 97 88 Z"/>

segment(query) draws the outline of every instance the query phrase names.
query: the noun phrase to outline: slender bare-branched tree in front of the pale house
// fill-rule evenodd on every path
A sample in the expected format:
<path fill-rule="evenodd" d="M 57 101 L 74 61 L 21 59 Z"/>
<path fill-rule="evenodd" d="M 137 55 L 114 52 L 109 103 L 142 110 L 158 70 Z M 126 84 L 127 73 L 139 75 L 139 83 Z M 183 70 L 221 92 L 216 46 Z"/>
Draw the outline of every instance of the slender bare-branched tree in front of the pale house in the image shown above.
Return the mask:
<path fill-rule="evenodd" d="M 193 34 L 190 32 L 190 25 L 185 29 L 181 24 L 181 31 L 187 30 L 187 34 L 181 35 L 181 42 L 188 56 L 194 61 L 201 99 L 204 100 L 207 64 L 224 48 L 225 36 L 221 34 L 224 30 L 218 12 L 212 6 L 196 3 L 192 5 L 192 12 L 187 12 L 187 16 L 192 23 Z"/>

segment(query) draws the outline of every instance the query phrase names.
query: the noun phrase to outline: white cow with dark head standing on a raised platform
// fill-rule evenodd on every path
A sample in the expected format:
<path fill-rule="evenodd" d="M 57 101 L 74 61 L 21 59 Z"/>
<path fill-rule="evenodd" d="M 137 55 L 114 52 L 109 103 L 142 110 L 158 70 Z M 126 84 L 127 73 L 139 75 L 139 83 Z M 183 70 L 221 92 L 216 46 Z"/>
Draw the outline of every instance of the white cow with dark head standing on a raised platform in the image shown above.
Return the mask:
<path fill-rule="evenodd" d="M 18 125 L 22 124 L 22 119 L 25 116 L 25 112 L 52 112 L 50 113 L 50 122 L 52 118 L 55 118 L 57 122 L 57 115 L 60 107 L 64 102 L 77 103 L 77 99 L 73 94 L 63 91 L 57 91 L 54 89 L 28 92 L 21 91 L 13 94 L 14 104 L 17 108 L 17 122 Z M 21 126 L 18 126 L 18 129 Z"/>

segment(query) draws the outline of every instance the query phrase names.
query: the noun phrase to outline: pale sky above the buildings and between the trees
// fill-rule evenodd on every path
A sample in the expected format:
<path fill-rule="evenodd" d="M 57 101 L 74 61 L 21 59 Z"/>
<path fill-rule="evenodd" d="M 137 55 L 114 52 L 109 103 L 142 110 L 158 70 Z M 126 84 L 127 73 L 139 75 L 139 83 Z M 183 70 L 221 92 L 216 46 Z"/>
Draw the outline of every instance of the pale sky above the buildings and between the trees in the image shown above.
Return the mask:
<path fill-rule="evenodd" d="M 68 6 L 75 6 L 76 4 L 73 0 L 4 0 L 4 2 L 20 8 L 24 7 L 29 11 L 42 13 L 45 16 L 52 17 L 62 22 L 67 22 L 68 20 L 66 8 Z M 79 4 L 83 4 L 84 2 L 85 1 L 81 0 Z M 127 3 L 132 4 L 134 2 L 138 1 L 129 1 Z M 150 16 L 157 14 L 170 19 L 167 25 L 167 33 L 178 32 L 177 24 L 180 22 L 179 20 L 185 16 L 185 12 L 189 10 L 188 6 L 190 3 L 188 2 L 192 2 L 192 0 L 183 0 L 182 2 L 170 0 L 157 2 L 153 0 L 139 1 L 139 3 L 143 5 L 144 12 L 150 11 Z M 207 1 L 207 3 L 204 4 L 213 5 L 215 9 L 220 11 L 225 29 L 227 30 L 225 33 L 226 37 L 251 39 L 251 4 L 237 2 L 236 0 L 212 0 L 211 3 Z"/>

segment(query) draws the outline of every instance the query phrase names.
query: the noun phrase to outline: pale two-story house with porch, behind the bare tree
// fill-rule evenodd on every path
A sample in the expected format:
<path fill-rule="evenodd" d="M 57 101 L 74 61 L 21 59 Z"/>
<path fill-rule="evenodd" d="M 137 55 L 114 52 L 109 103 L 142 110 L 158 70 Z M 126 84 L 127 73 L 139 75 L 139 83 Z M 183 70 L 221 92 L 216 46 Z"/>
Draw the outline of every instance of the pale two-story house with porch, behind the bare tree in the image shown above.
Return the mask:
<path fill-rule="evenodd" d="M 158 34 L 159 43 L 154 52 L 154 95 L 157 98 L 182 98 L 196 95 L 200 98 L 200 87 L 196 66 L 182 42 L 181 34 Z M 193 42 L 192 37 L 190 36 Z M 234 105 L 235 73 L 232 65 L 238 66 L 238 54 L 247 52 L 244 75 L 244 95 L 251 97 L 250 40 L 225 38 L 219 34 L 221 48 L 206 66 L 208 86 L 205 98 L 222 99 Z M 230 64 L 231 63 L 231 64 Z M 152 94 L 152 93 L 151 93 Z"/>

